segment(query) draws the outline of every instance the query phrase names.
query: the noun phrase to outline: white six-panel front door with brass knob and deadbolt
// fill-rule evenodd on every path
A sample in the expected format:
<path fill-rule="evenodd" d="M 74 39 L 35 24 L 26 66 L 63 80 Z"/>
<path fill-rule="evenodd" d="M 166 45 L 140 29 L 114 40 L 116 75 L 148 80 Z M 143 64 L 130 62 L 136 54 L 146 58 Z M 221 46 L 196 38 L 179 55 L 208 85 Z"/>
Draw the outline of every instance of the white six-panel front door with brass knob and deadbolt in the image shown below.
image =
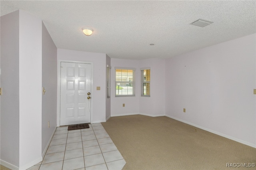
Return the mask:
<path fill-rule="evenodd" d="M 60 126 L 90 123 L 91 64 L 61 62 L 60 74 Z"/>

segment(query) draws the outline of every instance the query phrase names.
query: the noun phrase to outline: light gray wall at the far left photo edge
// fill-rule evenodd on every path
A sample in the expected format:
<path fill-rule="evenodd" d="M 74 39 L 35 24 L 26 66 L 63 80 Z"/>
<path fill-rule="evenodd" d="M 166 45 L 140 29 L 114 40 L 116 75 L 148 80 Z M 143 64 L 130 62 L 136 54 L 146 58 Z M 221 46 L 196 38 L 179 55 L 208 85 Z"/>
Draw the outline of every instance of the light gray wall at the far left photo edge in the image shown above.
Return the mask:
<path fill-rule="evenodd" d="M 19 167 L 19 12 L 1 16 L 1 160 Z"/>

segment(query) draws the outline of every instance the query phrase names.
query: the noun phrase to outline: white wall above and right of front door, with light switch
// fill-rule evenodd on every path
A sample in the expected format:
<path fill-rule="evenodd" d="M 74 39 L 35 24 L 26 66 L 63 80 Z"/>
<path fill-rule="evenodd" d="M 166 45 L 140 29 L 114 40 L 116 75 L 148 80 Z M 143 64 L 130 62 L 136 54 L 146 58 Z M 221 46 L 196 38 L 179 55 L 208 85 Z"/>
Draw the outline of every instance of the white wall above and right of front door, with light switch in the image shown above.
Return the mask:
<path fill-rule="evenodd" d="M 91 123 L 106 121 L 106 54 L 57 49 L 58 60 L 93 63 Z M 59 62 L 59 61 L 58 61 Z M 100 90 L 96 90 L 100 87 Z"/>

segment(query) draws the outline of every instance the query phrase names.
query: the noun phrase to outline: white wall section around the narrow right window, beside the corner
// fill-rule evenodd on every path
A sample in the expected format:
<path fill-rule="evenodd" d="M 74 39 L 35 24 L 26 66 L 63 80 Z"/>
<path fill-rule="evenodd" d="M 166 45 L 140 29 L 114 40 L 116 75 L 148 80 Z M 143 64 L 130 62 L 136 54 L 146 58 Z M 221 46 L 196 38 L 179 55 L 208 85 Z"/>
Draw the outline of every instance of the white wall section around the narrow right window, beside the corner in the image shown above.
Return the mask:
<path fill-rule="evenodd" d="M 140 60 L 140 68 L 150 67 L 150 97 L 140 97 L 140 114 L 150 116 L 165 115 L 165 60 Z M 140 83 L 140 81 L 138 82 Z M 140 95 L 140 93 L 139 93 Z"/>

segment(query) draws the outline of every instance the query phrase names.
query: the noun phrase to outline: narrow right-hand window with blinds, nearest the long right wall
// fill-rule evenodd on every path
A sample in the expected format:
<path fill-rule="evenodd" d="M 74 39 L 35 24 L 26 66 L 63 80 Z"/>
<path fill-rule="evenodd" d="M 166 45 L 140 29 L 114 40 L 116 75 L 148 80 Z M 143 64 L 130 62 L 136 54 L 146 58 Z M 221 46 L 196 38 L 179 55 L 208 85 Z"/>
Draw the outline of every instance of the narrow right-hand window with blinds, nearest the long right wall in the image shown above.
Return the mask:
<path fill-rule="evenodd" d="M 150 68 L 142 68 L 141 71 L 141 96 L 150 97 Z"/>

